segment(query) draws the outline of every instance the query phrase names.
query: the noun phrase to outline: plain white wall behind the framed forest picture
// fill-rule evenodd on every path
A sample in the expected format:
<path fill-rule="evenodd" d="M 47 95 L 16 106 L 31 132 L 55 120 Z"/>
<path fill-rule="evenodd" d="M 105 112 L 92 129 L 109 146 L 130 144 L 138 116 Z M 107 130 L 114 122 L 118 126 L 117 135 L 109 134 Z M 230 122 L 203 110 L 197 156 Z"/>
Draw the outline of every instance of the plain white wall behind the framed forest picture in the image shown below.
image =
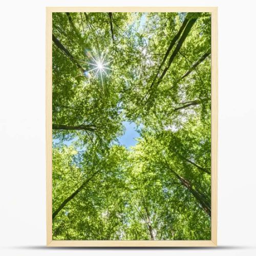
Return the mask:
<path fill-rule="evenodd" d="M 2 1 L 0 244 L 2 255 L 129 255 L 137 250 L 45 249 L 45 7 L 219 7 L 219 219 L 215 249 L 141 255 L 256 255 L 255 1 Z"/>

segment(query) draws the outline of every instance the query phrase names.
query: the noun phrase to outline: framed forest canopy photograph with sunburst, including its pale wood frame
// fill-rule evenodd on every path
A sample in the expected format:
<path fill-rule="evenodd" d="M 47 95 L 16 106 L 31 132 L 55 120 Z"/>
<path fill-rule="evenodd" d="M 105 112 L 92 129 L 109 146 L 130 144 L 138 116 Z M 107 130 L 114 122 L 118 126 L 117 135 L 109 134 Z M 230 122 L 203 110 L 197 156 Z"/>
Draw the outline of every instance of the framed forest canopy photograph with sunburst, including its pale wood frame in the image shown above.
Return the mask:
<path fill-rule="evenodd" d="M 217 246 L 217 7 L 46 14 L 47 245 Z"/>

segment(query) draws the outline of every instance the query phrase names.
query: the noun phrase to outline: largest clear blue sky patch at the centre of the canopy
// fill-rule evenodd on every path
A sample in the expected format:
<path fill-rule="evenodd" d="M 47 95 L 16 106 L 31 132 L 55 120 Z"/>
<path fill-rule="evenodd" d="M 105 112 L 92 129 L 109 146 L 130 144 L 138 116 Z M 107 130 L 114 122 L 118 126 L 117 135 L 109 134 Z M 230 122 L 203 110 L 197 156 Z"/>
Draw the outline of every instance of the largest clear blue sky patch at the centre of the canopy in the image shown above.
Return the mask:
<path fill-rule="evenodd" d="M 136 138 L 139 138 L 140 135 L 136 132 L 136 124 L 133 122 L 123 122 L 125 127 L 125 132 L 123 136 L 119 137 L 118 140 L 120 144 L 125 145 L 127 148 L 130 146 L 135 146 L 137 141 Z"/>

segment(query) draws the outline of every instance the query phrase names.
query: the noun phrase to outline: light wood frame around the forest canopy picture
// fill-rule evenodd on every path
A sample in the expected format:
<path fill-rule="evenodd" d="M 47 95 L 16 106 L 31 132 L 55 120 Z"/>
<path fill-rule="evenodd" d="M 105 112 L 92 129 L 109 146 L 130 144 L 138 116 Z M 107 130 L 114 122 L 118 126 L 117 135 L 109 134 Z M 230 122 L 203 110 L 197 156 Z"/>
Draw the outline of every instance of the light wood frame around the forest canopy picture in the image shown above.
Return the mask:
<path fill-rule="evenodd" d="M 69 241 L 52 240 L 52 13 L 53 12 L 210 12 L 211 13 L 211 240 Z M 46 8 L 46 206 L 47 246 L 210 247 L 217 246 L 218 8 L 217 7 L 47 7 Z"/>

